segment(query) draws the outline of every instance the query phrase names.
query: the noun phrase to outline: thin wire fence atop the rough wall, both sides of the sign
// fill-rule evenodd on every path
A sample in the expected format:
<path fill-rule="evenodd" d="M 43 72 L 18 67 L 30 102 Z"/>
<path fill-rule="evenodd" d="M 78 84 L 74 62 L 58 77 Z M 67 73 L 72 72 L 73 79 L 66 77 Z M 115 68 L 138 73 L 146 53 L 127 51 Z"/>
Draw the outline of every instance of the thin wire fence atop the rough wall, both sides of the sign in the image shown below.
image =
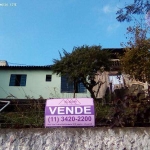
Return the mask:
<path fill-rule="evenodd" d="M 95 101 L 96 126 L 150 126 L 149 99 Z M 46 100 L 10 100 L 0 112 L 0 128 L 44 128 Z"/>

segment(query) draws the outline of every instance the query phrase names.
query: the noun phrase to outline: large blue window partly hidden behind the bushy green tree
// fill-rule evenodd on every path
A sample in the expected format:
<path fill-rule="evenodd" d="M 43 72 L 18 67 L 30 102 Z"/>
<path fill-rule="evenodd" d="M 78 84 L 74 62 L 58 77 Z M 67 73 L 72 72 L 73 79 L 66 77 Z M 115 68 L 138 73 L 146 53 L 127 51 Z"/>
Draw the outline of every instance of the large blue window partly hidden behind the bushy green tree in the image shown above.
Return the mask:
<path fill-rule="evenodd" d="M 69 81 L 67 77 L 62 76 L 61 77 L 61 92 L 62 93 L 86 93 L 87 90 L 84 87 L 83 83 L 78 83 L 78 85 L 75 87 L 74 82 Z"/>

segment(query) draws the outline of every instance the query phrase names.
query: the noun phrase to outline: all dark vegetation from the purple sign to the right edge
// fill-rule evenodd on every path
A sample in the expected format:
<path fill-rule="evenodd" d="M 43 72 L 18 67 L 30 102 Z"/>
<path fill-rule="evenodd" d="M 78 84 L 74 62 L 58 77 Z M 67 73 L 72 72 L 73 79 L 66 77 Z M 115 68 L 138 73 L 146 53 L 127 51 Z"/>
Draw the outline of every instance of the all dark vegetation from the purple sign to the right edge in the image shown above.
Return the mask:
<path fill-rule="evenodd" d="M 122 95 L 120 95 L 122 93 Z M 128 93 L 128 94 L 127 94 Z M 150 98 L 144 93 L 133 96 L 130 90 L 118 89 L 112 103 L 95 102 L 96 126 L 150 126 Z"/>

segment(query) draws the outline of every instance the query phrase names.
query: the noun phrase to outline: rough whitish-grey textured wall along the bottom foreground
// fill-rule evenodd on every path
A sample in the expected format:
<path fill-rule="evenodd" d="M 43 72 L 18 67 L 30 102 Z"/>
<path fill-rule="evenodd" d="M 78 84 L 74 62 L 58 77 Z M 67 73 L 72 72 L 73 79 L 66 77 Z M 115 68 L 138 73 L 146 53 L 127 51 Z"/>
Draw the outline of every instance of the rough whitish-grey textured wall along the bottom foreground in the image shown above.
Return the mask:
<path fill-rule="evenodd" d="M 150 150 L 150 128 L 0 129 L 1 150 Z"/>

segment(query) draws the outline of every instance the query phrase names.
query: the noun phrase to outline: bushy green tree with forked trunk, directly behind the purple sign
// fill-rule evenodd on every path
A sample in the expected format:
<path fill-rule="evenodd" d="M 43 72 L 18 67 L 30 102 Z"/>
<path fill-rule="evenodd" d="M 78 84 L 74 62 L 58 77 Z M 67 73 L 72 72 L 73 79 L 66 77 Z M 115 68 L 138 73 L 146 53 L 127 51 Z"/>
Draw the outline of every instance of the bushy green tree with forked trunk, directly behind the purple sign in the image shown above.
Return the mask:
<path fill-rule="evenodd" d="M 93 87 L 97 84 L 94 82 L 95 73 L 109 68 L 109 57 L 109 52 L 102 50 L 101 46 L 74 47 L 71 53 L 63 50 L 63 56 L 60 53 L 60 60 L 53 60 L 52 70 L 74 82 L 74 93 L 76 85 L 81 82 L 91 97 L 96 99 L 93 91 Z"/>

